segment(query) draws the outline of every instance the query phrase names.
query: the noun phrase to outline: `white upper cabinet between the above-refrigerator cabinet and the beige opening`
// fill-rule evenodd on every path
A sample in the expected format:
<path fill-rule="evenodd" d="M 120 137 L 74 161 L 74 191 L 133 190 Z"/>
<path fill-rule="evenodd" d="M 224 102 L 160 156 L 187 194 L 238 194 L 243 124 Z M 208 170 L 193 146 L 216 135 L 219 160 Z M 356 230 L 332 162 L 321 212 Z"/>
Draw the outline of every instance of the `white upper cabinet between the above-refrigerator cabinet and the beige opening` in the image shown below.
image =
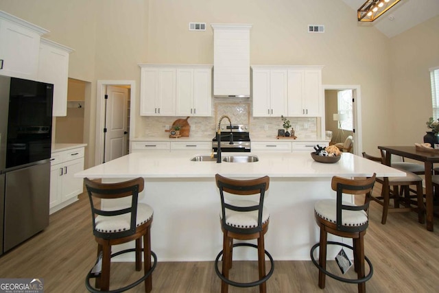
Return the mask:
<path fill-rule="evenodd" d="M 67 116 L 67 80 L 69 78 L 69 47 L 41 38 L 38 80 L 54 84 L 54 116 Z"/>

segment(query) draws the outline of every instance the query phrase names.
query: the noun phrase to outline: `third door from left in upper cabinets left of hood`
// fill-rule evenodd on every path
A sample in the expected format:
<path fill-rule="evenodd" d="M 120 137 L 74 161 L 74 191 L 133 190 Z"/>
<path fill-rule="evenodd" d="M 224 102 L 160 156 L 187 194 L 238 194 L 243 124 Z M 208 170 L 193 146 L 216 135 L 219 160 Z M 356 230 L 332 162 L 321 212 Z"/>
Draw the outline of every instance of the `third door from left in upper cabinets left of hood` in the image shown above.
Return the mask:
<path fill-rule="evenodd" d="M 176 96 L 176 115 L 193 115 L 193 69 L 177 69 Z"/>

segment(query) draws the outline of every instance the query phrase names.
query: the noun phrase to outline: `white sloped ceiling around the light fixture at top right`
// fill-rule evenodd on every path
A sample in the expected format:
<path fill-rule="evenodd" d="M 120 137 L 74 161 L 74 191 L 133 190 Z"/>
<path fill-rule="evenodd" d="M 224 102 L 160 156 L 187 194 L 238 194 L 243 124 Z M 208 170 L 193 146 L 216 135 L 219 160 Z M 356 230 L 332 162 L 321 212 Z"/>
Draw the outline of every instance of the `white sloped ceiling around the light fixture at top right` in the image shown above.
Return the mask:
<path fill-rule="evenodd" d="M 356 18 L 357 9 L 366 0 L 342 1 L 353 8 L 353 17 Z M 359 23 L 359 25 L 375 26 L 385 36 L 392 38 L 437 15 L 439 15 L 439 0 L 401 0 L 379 19 L 372 23 Z"/>

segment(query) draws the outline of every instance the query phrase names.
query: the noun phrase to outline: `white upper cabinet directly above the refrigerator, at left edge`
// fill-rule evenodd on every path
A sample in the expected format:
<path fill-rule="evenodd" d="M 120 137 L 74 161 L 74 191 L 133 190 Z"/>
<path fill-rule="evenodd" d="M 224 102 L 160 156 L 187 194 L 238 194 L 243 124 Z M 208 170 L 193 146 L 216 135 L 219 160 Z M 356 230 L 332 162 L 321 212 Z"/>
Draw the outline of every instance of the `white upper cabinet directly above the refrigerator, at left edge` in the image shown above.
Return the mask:
<path fill-rule="evenodd" d="M 48 32 L 0 11 L 0 75 L 36 80 L 40 36 Z"/>

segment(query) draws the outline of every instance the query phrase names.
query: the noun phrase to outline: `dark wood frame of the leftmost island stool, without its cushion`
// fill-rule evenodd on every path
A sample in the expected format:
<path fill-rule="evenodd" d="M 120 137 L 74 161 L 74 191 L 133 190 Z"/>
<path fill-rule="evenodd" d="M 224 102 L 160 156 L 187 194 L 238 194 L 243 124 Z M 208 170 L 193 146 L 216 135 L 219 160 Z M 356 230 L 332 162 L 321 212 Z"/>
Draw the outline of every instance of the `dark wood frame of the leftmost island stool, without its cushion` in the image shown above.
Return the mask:
<path fill-rule="evenodd" d="M 91 216 L 93 221 L 93 235 L 95 235 L 95 240 L 97 242 L 97 256 L 102 253 L 102 274 L 96 277 L 95 287 L 101 290 L 96 290 L 90 284 L 90 279 L 92 278 L 91 270 L 88 272 L 85 285 L 88 291 L 97 292 L 111 292 L 118 293 L 124 292 L 134 286 L 139 285 L 145 281 L 145 292 L 151 292 L 152 290 L 152 272 L 156 268 L 157 257 L 154 251 L 151 250 L 151 224 L 152 218 L 147 220 L 147 222 L 136 226 L 137 220 L 137 200 L 139 197 L 139 192 L 143 191 L 144 181 L 143 178 L 135 178 L 122 183 L 98 183 L 88 178 L 84 178 L 84 183 L 86 185 L 88 198 L 91 204 Z M 126 209 L 119 209 L 115 211 L 103 211 L 95 207 L 93 203 L 93 197 L 104 198 L 104 199 L 115 199 L 115 198 L 125 198 L 132 196 L 131 207 Z M 126 231 L 106 233 L 96 230 L 95 215 L 103 215 L 106 217 L 122 215 L 125 213 L 130 213 L 130 229 Z M 141 253 L 142 253 L 142 243 L 141 238 L 143 237 L 143 265 L 145 274 L 143 277 L 124 286 L 117 290 L 111 290 L 110 288 L 110 258 L 117 255 L 122 255 L 123 253 L 135 252 L 136 256 L 136 270 L 141 270 Z M 117 253 L 111 254 L 111 246 L 117 244 L 123 244 L 126 242 L 131 242 L 135 240 L 136 248 L 130 248 L 126 250 L 121 250 Z M 151 265 L 151 257 L 154 259 L 154 264 Z"/>

